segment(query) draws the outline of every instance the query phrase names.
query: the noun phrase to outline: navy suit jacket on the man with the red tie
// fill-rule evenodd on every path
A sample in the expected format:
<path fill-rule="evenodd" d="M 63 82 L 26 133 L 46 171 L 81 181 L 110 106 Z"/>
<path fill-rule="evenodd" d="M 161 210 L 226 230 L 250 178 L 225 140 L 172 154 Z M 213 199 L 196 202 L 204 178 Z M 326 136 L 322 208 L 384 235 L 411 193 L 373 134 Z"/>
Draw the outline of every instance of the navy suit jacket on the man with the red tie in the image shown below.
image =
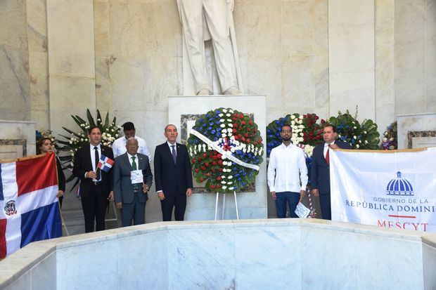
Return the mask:
<path fill-rule="evenodd" d="M 352 149 L 349 143 L 335 140 L 335 144 L 342 149 Z M 318 189 L 320 195 L 330 194 L 330 166 L 324 158 L 324 143 L 314 147 L 310 173 L 312 189 Z"/>

